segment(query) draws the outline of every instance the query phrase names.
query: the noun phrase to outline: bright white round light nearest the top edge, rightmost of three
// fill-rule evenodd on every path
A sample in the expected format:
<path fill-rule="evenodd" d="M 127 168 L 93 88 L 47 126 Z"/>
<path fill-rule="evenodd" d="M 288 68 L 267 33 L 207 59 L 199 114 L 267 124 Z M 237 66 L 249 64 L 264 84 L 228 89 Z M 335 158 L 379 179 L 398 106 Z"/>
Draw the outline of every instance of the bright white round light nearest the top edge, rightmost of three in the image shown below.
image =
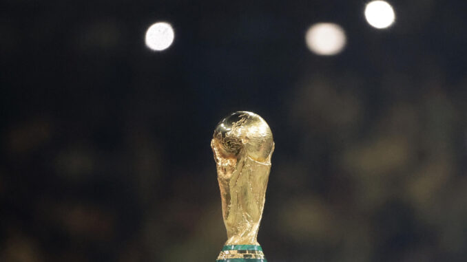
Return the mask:
<path fill-rule="evenodd" d="M 374 28 L 388 28 L 394 23 L 394 9 L 386 1 L 372 1 L 366 5 L 365 18 Z"/>

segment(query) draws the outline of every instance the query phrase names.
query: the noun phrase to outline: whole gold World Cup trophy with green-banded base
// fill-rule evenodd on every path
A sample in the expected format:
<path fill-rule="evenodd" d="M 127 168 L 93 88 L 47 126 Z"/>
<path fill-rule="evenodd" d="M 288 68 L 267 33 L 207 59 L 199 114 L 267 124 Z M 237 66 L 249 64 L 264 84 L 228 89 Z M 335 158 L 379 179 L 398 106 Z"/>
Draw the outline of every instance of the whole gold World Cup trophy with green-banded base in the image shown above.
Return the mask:
<path fill-rule="evenodd" d="M 238 111 L 217 125 L 211 140 L 227 242 L 217 262 L 266 262 L 256 240 L 274 141 L 256 113 Z"/>

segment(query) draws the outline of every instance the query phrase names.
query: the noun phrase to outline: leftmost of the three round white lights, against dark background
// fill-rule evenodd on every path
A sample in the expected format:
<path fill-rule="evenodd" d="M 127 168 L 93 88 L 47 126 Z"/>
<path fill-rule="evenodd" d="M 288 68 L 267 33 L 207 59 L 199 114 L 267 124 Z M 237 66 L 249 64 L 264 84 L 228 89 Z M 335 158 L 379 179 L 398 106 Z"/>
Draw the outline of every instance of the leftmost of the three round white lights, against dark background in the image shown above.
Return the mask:
<path fill-rule="evenodd" d="M 172 42 L 174 42 L 174 29 L 169 23 L 154 23 L 146 31 L 146 45 L 152 50 L 165 50 L 172 45 Z"/>

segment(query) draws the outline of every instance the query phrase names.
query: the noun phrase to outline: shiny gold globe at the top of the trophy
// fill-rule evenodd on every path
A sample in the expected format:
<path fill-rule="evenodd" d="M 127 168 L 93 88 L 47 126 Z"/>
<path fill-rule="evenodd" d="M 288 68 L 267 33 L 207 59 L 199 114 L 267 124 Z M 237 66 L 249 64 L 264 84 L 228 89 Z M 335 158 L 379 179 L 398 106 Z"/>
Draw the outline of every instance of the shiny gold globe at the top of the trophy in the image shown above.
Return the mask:
<path fill-rule="evenodd" d="M 252 160 L 269 162 L 273 151 L 273 136 L 264 119 L 256 113 L 238 111 L 224 118 L 213 135 L 220 157 L 233 159 L 245 153 Z"/>

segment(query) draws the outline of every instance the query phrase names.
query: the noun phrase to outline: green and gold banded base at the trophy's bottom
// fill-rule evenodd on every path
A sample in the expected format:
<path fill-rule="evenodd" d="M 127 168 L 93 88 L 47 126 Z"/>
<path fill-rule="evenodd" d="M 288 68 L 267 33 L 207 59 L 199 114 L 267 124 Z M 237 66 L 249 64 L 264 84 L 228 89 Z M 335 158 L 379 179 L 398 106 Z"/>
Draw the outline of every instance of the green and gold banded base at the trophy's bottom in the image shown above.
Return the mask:
<path fill-rule="evenodd" d="M 216 262 L 267 262 L 260 245 L 224 245 Z"/>

